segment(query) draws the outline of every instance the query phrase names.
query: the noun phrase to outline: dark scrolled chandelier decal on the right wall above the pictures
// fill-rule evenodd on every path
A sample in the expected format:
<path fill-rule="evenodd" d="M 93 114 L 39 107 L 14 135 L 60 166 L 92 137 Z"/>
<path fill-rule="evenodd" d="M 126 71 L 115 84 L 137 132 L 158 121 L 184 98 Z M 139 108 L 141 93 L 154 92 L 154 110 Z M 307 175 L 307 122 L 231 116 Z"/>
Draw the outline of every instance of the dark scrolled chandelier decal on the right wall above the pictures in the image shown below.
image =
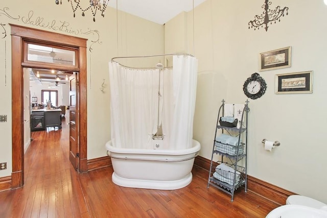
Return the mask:
<path fill-rule="evenodd" d="M 268 0 L 265 0 L 265 4 L 262 6 L 264 9 L 264 12 L 261 15 L 255 15 L 254 20 L 250 20 L 248 23 L 249 29 L 254 27 L 254 30 L 258 29 L 259 27 L 263 27 L 265 25 L 266 32 L 268 31 L 268 23 L 272 24 L 272 22 L 276 23 L 276 20 L 278 22 L 281 21 L 281 17 L 288 15 L 288 7 L 284 7 L 281 9 L 281 6 L 277 6 L 274 10 L 270 10 L 269 6 L 271 5 L 271 2 Z"/>

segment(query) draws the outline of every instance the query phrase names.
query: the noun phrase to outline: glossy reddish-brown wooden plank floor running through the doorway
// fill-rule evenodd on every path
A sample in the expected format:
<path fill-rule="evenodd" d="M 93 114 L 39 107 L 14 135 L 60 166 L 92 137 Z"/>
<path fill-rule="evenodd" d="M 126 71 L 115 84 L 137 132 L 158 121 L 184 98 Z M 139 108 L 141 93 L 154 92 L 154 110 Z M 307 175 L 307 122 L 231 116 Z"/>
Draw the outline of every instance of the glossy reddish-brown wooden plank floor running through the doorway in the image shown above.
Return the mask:
<path fill-rule="evenodd" d="M 112 167 L 84 174 L 68 159 L 66 113 L 61 130 L 33 132 L 25 154 L 25 186 L 0 192 L 0 217 L 265 217 L 278 205 L 239 189 L 233 202 L 193 167 L 193 181 L 177 190 L 126 188 Z"/>

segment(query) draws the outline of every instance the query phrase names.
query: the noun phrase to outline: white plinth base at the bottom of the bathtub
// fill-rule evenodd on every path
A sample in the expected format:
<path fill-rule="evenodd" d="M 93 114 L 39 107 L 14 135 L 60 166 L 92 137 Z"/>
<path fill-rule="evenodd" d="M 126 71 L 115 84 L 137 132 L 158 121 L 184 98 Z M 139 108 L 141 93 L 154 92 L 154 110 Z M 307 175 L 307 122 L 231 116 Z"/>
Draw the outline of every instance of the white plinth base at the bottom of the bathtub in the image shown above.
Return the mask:
<path fill-rule="evenodd" d="M 184 178 L 173 181 L 158 181 L 158 180 L 139 180 L 139 179 L 127 179 L 112 174 L 112 182 L 116 185 L 130 188 L 147 188 L 158 190 L 175 190 L 183 188 L 190 184 L 192 181 L 192 173 L 186 175 Z"/>

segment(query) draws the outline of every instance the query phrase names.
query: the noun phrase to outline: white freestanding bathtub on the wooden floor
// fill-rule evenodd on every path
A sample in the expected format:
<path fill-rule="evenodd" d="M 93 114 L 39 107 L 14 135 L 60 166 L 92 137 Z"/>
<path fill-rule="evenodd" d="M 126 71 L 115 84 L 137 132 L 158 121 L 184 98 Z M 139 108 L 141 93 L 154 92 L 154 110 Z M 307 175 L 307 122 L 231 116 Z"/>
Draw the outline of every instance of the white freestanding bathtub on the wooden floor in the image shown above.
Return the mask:
<path fill-rule="evenodd" d="M 173 190 L 185 187 L 192 181 L 194 158 L 200 143 L 183 150 L 122 149 L 106 143 L 111 157 L 112 182 L 132 188 Z"/>

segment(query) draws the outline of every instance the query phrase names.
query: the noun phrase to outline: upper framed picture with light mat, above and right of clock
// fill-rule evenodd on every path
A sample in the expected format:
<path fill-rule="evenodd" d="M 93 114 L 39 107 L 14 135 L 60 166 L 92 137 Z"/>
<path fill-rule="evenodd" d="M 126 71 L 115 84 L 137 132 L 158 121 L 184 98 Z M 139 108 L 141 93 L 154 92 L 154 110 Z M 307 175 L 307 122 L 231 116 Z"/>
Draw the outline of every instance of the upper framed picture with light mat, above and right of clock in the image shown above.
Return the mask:
<path fill-rule="evenodd" d="M 260 53 L 260 71 L 291 66 L 291 46 Z"/>

